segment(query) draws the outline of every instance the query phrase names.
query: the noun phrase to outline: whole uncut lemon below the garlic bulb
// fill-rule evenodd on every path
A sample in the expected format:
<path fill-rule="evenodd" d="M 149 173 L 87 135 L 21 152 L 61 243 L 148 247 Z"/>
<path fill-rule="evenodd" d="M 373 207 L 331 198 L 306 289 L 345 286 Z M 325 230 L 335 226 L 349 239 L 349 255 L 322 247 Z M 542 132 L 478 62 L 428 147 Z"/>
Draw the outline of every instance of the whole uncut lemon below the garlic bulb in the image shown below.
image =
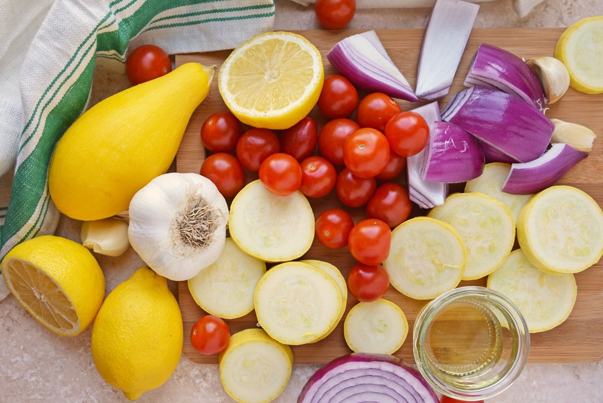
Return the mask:
<path fill-rule="evenodd" d="M 99 374 L 130 400 L 161 386 L 182 354 L 182 314 L 165 278 L 144 266 L 109 293 L 92 325 Z"/>

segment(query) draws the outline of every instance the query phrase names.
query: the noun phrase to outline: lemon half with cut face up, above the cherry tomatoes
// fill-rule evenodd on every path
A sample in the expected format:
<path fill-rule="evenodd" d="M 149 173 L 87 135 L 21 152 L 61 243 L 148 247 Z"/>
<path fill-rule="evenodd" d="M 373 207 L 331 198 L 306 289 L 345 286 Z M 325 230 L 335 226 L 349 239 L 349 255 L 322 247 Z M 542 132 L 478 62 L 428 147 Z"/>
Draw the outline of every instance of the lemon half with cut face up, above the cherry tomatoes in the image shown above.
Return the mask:
<path fill-rule="evenodd" d="M 282 31 L 241 43 L 218 73 L 224 103 L 245 124 L 279 130 L 308 115 L 323 87 L 320 51 L 305 37 Z"/>

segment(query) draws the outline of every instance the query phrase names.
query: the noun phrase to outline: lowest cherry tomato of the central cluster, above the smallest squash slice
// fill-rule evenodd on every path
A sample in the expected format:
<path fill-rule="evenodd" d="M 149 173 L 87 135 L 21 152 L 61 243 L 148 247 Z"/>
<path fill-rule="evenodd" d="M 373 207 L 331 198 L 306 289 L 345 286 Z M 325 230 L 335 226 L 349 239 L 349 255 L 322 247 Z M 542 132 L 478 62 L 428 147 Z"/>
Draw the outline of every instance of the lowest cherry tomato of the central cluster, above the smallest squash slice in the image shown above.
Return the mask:
<path fill-rule="evenodd" d="M 347 273 L 347 288 L 360 302 L 373 302 L 390 287 L 390 274 L 383 265 L 357 263 Z"/>

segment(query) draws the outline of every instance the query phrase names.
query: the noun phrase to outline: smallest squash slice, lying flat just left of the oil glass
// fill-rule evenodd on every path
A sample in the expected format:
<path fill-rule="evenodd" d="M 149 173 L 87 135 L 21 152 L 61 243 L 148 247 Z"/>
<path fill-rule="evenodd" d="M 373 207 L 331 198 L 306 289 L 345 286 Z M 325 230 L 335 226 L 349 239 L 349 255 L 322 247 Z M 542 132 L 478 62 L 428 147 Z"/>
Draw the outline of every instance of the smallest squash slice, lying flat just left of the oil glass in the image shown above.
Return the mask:
<path fill-rule="evenodd" d="M 408 320 L 400 306 L 380 298 L 354 305 L 343 331 L 352 351 L 394 354 L 406 340 Z"/>

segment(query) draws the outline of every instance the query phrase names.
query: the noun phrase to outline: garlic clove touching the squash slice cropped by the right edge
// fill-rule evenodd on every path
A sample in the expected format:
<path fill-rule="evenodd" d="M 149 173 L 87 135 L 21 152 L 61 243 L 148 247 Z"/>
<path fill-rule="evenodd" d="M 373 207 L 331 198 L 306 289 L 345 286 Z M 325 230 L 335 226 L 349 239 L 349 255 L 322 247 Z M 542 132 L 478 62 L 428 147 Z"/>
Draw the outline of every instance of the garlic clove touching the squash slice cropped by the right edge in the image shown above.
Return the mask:
<path fill-rule="evenodd" d="M 560 60 L 551 56 L 538 56 L 526 62 L 540 80 L 547 103 L 557 102 L 569 88 L 569 72 Z"/>

